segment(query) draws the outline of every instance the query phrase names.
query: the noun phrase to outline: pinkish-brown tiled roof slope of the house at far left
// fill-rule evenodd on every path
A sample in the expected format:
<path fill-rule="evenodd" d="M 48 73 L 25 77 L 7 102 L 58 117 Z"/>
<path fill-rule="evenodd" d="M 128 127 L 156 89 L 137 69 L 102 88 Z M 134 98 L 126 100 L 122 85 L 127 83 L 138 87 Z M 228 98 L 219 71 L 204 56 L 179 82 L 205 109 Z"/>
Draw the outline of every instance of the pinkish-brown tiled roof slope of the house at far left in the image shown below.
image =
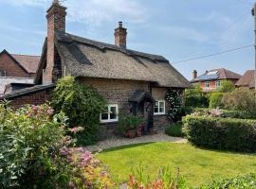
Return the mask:
<path fill-rule="evenodd" d="M 11 56 L 17 60 L 27 71 L 27 73 L 35 74 L 40 61 L 40 56 L 30 56 L 30 55 L 15 55 Z"/>

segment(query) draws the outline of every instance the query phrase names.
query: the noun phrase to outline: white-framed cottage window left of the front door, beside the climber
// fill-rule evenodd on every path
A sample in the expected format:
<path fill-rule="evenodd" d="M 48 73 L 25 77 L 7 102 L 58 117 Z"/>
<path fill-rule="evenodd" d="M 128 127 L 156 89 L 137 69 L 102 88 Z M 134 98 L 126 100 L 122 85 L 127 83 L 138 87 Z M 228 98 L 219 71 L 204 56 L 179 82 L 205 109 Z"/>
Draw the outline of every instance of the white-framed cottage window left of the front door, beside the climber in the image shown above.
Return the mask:
<path fill-rule="evenodd" d="M 106 111 L 101 113 L 101 123 L 119 121 L 119 105 L 111 104 L 106 107 Z"/>

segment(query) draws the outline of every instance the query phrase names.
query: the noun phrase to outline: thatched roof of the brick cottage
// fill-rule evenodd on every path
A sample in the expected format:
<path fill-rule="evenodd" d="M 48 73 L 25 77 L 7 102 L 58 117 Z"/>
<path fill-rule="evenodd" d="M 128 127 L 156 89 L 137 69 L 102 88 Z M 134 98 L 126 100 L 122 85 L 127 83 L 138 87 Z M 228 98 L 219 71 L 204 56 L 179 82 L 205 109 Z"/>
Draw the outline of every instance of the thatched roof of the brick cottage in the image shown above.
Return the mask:
<path fill-rule="evenodd" d="M 137 52 L 56 31 L 56 47 L 67 74 L 156 82 L 188 88 L 191 83 L 162 56 Z"/>

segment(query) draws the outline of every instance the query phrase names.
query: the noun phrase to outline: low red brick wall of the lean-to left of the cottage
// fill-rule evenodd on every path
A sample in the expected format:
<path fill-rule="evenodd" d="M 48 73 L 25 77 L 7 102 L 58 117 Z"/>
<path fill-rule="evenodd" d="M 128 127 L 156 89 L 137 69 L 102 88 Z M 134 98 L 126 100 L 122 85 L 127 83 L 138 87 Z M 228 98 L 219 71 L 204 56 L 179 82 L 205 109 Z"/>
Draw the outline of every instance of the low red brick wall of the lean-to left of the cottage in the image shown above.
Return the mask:
<path fill-rule="evenodd" d="M 10 98 L 9 99 L 11 100 L 10 105 L 13 108 L 20 108 L 27 104 L 31 104 L 31 105 L 45 104 L 46 101 L 49 101 L 51 92 L 52 92 L 52 89 L 47 89 L 45 91 L 40 91 L 36 93 L 25 94 L 15 98 Z"/>

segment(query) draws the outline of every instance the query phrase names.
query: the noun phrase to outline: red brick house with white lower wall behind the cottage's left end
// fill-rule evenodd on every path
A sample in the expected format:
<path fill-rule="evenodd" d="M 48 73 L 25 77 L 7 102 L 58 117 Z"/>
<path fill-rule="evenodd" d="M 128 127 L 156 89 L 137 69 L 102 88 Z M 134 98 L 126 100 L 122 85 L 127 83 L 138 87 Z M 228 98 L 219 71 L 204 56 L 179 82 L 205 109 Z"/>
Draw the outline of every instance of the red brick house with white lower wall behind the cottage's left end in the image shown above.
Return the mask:
<path fill-rule="evenodd" d="M 0 96 L 24 87 L 31 87 L 39 64 L 39 56 L 0 53 Z"/>

